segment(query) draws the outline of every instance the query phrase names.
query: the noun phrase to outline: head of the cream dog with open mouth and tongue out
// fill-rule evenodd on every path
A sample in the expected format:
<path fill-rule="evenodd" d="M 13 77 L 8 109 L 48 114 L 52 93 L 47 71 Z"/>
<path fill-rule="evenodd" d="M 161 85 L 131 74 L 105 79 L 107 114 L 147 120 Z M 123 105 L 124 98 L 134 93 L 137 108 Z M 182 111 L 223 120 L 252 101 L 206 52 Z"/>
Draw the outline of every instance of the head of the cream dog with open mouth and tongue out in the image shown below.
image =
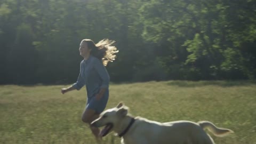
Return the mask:
<path fill-rule="evenodd" d="M 107 109 L 103 111 L 98 119 L 95 119 L 91 123 L 92 126 L 102 127 L 105 126 L 100 135 L 105 137 L 108 133 L 113 131 L 116 126 L 119 126 L 121 120 L 127 115 L 128 107 L 124 103 L 120 102 L 115 108 Z"/>

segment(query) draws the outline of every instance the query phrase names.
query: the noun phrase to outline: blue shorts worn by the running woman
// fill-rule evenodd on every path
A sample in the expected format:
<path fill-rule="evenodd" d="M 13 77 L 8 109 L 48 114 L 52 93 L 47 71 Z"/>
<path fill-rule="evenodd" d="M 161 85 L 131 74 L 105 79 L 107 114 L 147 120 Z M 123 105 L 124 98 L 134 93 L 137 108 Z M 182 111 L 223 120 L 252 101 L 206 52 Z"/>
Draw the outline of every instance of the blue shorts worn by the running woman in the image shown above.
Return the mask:
<path fill-rule="evenodd" d="M 107 106 L 108 95 L 109 95 L 109 91 L 106 90 L 106 92 L 104 93 L 104 95 L 102 96 L 102 98 L 100 100 L 97 100 L 95 98 L 95 95 L 93 95 L 93 97 L 91 97 L 91 98 L 87 97 L 87 103 L 86 103 L 85 110 L 86 109 L 93 109 L 93 110 L 96 111 L 97 114 L 102 113 L 102 111 Z"/>

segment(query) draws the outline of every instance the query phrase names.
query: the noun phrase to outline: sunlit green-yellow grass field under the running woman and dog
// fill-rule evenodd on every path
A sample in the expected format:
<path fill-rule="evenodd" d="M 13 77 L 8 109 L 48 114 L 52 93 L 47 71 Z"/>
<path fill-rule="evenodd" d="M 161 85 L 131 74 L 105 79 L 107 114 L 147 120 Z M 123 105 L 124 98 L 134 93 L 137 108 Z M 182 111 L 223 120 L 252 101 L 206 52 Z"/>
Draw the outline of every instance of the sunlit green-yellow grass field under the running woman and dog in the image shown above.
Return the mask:
<path fill-rule="evenodd" d="M 63 85 L 0 86 L 0 143 L 95 143 L 81 121 L 85 88 L 61 94 Z M 235 133 L 215 143 L 256 143 L 256 84 L 167 81 L 111 84 L 107 108 L 123 101 L 133 116 L 159 122 L 208 120 Z M 211 134 L 212 135 L 212 134 Z M 120 143 L 113 133 L 106 143 Z"/>

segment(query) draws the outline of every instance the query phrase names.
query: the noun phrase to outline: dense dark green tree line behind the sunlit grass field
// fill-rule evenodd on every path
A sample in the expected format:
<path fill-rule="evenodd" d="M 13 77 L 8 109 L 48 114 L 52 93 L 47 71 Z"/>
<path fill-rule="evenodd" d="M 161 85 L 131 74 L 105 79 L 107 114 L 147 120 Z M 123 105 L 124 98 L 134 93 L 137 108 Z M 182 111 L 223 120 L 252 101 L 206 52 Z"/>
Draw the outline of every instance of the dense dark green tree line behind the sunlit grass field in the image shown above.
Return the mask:
<path fill-rule="evenodd" d="M 1 0 L 0 84 L 63 84 L 79 43 L 116 41 L 111 81 L 255 79 L 253 0 Z"/>

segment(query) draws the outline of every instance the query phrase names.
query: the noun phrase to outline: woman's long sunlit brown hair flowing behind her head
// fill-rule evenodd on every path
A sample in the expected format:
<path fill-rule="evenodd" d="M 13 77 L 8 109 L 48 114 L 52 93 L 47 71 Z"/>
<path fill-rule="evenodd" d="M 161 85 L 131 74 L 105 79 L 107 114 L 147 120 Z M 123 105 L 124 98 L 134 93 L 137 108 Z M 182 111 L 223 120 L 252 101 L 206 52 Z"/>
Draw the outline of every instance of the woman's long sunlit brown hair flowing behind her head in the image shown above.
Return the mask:
<path fill-rule="evenodd" d="M 104 66 L 107 66 L 109 61 L 113 62 L 115 60 L 118 52 L 116 46 L 112 45 L 115 41 L 102 39 L 95 44 L 91 39 L 83 39 L 82 42 L 87 43 L 87 46 L 91 49 L 91 54 L 101 60 Z"/>

